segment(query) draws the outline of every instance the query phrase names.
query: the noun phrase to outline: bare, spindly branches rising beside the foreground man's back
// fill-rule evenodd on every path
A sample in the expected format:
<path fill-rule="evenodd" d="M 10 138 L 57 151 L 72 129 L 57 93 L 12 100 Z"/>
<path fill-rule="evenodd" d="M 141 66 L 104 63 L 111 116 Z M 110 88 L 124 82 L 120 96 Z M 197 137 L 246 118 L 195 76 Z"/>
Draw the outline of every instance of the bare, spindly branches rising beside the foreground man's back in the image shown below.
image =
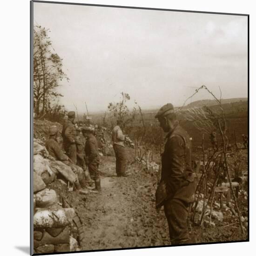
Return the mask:
<path fill-rule="evenodd" d="M 192 109 L 187 112 L 188 119 L 190 119 L 190 121 L 191 120 L 194 121 L 195 126 L 197 126 L 197 128 L 201 128 L 201 130 L 202 130 L 202 154 L 203 154 L 202 167 L 203 167 L 203 171 L 202 171 L 201 179 L 200 179 L 197 189 L 196 189 L 196 192 L 198 192 L 199 189 L 201 189 L 201 191 L 203 193 L 203 208 L 202 208 L 200 224 L 202 225 L 202 223 L 204 223 L 203 220 L 204 220 L 204 214 L 206 211 L 206 203 L 210 204 L 211 208 L 212 208 L 212 201 L 214 200 L 216 184 L 217 184 L 218 180 L 220 179 L 220 170 L 223 169 L 224 175 L 227 177 L 227 181 L 229 182 L 231 195 L 235 202 L 236 212 L 238 215 L 241 231 L 242 231 L 242 234 L 244 234 L 243 224 L 242 224 L 242 220 L 241 220 L 241 213 L 240 213 L 240 210 L 239 210 L 239 207 L 237 204 L 237 198 L 234 193 L 234 189 L 232 188 L 231 178 L 230 178 L 230 166 L 229 166 L 229 162 L 227 160 L 227 148 L 228 148 L 229 140 L 227 137 L 227 130 L 228 130 L 227 122 L 226 122 L 224 110 L 223 110 L 222 104 L 221 104 L 222 92 L 220 89 L 221 96 L 220 96 L 220 99 L 218 100 L 216 98 L 216 96 L 211 91 L 209 91 L 209 89 L 206 86 L 202 85 L 200 88 L 196 89 L 195 93 L 192 94 L 192 96 L 190 96 L 188 99 L 192 98 L 201 89 L 205 89 L 209 94 L 211 94 L 213 96 L 213 98 L 216 100 L 219 111 L 214 113 L 210 108 L 204 107 L 204 109 L 202 109 L 202 108 L 201 109 Z M 184 107 L 185 102 L 184 102 L 182 108 Z M 180 108 L 180 111 L 182 110 L 182 108 Z M 197 118 L 198 118 L 198 120 L 197 120 Z M 206 155 L 205 155 L 203 143 L 204 143 L 204 133 L 207 132 L 208 127 L 211 128 L 210 129 L 211 131 L 216 130 L 216 129 L 219 131 L 221 138 L 222 138 L 222 146 L 220 148 L 216 148 L 213 151 L 213 153 L 209 155 L 207 162 L 206 162 L 206 160 L 205 160 Z M 208 185 L 209 174 L 211 173 L 211 170 L 212 170 L 212 166 L 210 165 L 210 162 L 212 162 L 212 161 L 216 162 L 216 160 L 218 159 L 219 156 L 221 156 L 222 161 L 219 162 L 218 171 L 215 173 L 215 176 L 214 176 L 214 182 L 211 183 L 211 185 L 209 186 Z M 210 195 L 209 196 L 207 195 L 208 194 L 207 193 L 208 186 L 210 187 Z M 200 193 L 198 194 L 198 197 L 197 197 L 197 200 L 195 203 L 194 214 L 195 214 L 195 209 L 197 207 L 197 203 L 199 200 L 199 196 L 200 196 Z M 207 197 L 208 197 L 208 200 L 206 200 Z M 195 216 L 195 215 L 193 215 L 193 216 Z"/>

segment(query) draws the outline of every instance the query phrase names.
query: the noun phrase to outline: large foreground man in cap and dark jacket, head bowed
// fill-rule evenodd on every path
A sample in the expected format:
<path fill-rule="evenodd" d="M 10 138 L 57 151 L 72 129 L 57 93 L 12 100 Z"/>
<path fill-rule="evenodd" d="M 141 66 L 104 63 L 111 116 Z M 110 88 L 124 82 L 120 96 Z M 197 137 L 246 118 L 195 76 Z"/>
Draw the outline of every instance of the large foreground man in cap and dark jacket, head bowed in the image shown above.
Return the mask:
<path fill-rule="evenodd" d="M 171 244 L 191 243 L 187 225 L 189 205 L 195 197 L 191 141 L 179 125 L 171 103 L 160 108 L 155 118 L 167 133 L 162 153 L 162 177 L 155 194 L 156 208 L 164 206 Z"/>

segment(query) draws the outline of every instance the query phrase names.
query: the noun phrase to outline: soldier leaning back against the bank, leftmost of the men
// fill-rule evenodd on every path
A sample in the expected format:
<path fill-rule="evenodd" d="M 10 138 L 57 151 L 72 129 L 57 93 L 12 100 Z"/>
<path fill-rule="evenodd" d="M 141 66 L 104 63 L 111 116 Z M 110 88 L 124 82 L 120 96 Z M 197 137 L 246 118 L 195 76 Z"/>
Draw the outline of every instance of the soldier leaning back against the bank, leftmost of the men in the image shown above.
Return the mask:
<path fill-rule="evenodd" d="M 49 139 L 46 141 L 45 146 L 49 154 L 54 157 L 55 160 L 61 161 L 62 163 L 69 166 L 73 172 L 77 175 L 77 180 L 74 185 L 77 190 L 80 190 L 82 193 L 88 193 L 86 189 L 86 180 L 83 173 L 83 169 L 73 163 L 73 161 L 63 152 L 58 141 L 58 129 L 57 126 L 51 126 L 49 128 Z"/>

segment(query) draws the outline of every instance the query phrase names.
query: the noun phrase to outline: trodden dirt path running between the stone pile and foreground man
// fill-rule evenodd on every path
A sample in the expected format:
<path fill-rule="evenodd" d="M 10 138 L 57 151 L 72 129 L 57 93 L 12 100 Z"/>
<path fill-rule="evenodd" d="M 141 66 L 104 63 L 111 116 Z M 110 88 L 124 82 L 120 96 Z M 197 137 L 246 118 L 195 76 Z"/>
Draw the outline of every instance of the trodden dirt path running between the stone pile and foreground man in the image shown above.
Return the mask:
<path fill-rule="evenodd" d="M 88 195 L 85 205 L 76 209 L 85 224 L 82 249 L 168 244 L 166 223 L 156 221 L 154 191 L 152 182 L 148 183 L 151 175 L 141 179 L 139 170 L 133 168 L 132 175 L 116 177 L 114 160 L 109 157 L 100 167 L 102 192 Z"/>

